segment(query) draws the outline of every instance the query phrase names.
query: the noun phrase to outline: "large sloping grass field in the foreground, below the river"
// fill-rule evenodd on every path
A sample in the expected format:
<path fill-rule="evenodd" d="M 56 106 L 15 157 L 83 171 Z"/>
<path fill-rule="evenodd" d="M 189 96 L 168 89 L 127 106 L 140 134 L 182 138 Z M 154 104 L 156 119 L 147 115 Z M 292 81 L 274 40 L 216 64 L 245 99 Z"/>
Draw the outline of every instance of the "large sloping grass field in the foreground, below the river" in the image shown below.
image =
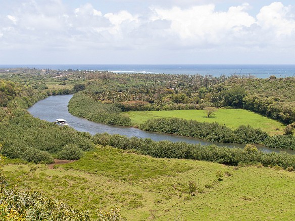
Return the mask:
<path fill-rule="evenodd" d="M 119 207 L 127 220 L 292 220 L 295 173 L 158 159 L 97 147 L 58 165 L 5 165 L 11 185 L 38 190 L 76 208 Z M 222 181 L 216 178 L 222 171 Z M 21 182 L 19 182 L 21 180 Z M 197 190 L 191 196 L 188 183 Z"/>

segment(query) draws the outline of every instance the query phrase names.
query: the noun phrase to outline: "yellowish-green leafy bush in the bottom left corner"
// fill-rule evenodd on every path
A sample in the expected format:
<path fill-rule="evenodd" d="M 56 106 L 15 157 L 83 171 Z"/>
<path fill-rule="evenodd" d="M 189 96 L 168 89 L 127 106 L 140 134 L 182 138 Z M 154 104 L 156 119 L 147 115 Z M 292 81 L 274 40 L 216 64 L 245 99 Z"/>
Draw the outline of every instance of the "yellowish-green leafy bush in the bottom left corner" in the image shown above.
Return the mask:
<path fill-rule="evenodd" d="M 0 190 L 1 220 L 90 220 L 88 211 L 72 209 L 37 192 Z"/>

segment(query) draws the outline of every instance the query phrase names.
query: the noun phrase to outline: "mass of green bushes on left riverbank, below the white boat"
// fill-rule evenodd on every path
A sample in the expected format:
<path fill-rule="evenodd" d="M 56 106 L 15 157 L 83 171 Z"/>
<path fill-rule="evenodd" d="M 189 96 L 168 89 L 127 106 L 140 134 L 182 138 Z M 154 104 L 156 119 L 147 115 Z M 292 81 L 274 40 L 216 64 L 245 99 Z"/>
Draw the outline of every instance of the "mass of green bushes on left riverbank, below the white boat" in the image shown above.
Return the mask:
<path fill-rule="evenodd" d="M 22 109 L 0 118 L 0 130 L 2 154 L 35 163 L 51 163 L 53 157 L 78 159 L 92 147 L 90 134 L 35 119 Z"/>

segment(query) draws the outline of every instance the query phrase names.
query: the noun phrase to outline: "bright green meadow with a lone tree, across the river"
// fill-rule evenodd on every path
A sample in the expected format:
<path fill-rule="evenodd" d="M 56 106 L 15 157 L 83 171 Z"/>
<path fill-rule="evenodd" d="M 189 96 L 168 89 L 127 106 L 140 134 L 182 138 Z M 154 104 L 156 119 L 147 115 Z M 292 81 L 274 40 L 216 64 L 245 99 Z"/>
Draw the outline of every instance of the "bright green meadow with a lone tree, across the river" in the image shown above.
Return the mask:
<path fill-rule="evenodd" d="M 180 111 L 151 111 L 151 112 L 126 112 L 132 120 L 133 125 L 140 125 L 151 118 L 182 118 L 200 122 L 217 122 L 225 124 L 231 129 L 239 125 L 250 125 L 260 128 L 270 135 L 282 134 L 285 125 L 263 117 L 259 114 L 244 109 L 218 109 L 215 116 L 207 118 L 203 110 L 180 110 Z"/>

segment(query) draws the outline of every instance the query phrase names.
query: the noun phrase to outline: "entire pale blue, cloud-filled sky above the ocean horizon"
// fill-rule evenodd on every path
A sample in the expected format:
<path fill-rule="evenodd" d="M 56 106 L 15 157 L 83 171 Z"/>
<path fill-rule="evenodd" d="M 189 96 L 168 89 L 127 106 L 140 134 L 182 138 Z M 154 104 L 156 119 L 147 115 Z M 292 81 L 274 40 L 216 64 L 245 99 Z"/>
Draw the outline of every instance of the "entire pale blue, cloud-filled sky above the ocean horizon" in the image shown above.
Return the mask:
<path fill-rule="evenodd" d="M 294 62 L 293 0 L 0 0 L 0 65 Z"/>

